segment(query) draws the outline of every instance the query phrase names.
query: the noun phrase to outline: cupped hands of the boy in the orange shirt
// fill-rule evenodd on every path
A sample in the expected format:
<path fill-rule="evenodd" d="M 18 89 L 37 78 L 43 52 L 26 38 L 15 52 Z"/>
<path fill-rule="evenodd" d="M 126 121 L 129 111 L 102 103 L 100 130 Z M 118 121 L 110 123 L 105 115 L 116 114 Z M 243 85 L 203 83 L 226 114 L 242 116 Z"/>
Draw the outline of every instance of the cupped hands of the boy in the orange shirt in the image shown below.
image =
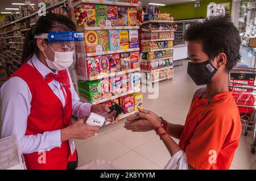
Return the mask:
<path fill-rule="evenodd" d="M 139 110 L 135 116 L 129 117 L 125 122 L 126 130 L 133 132 L 151 131 L 161 125 L 161 119 L 152 111 Z"/>

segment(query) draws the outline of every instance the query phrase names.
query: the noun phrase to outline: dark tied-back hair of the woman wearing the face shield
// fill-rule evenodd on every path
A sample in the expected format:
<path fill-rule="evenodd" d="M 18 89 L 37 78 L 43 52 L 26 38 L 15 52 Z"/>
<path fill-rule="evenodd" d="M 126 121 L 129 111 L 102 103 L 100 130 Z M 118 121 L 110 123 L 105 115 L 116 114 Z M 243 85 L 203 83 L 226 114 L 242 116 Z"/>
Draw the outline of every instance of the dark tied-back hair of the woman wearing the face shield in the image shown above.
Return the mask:
<path fill-rule="evenodd" d="M 38 50 L 36 45 L 36 39 L 34 35 L 40 35 L 42 33 L 48 33 L 50 31 L 76 31 L 76 25 L 67 16 L 47 13 L 45 16 L 40 16 L 35 26 L 27 32 L 24 40 L 24 47 L 22 52 L 22 62 L 30 59 L 34 53 Z"/>

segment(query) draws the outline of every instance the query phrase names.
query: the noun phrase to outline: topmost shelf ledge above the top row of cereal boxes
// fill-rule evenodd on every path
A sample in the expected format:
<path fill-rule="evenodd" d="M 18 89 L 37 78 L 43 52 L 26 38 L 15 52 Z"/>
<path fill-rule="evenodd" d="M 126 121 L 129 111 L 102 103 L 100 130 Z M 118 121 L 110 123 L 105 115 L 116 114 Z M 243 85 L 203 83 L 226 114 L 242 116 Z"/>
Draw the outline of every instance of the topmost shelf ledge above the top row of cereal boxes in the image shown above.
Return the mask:
<path fill-rule="evenodd" d="M 117 1 L 97 1 L 97 0 L 79 0 L 76 2 L 71 3 L 70 7 L 76 7 L 81 3 L 87 4 L 99 4 L 99 5 L 115 5 L 115 6 L 134 6 L 137 7 L 138 3 L 127 3 L 127 2 L 117 2 Z"/>

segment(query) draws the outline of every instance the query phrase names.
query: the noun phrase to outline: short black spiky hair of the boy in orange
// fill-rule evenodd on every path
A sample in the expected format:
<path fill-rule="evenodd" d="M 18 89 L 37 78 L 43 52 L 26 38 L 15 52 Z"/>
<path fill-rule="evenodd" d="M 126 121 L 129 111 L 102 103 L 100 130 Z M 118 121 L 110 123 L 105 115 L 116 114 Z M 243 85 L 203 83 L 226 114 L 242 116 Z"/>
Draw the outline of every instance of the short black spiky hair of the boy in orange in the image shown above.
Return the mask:
<path fill-rule="evenodd" d="M 200 41 L 204 52 L 213 60 L 221 52 L 226 54 L 226 70 L 230 71 L 241 60 L 241 39 L 229 16 L 213 16 L 203 23 L 197 22 L 187 28 L 186 41 Z"/>

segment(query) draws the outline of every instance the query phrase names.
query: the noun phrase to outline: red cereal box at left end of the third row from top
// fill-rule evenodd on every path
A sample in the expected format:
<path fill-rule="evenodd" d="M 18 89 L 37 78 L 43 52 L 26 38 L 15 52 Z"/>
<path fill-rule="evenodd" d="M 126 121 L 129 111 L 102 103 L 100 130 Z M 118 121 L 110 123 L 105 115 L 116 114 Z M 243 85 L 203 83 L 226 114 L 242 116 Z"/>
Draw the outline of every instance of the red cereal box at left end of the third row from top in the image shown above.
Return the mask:
<path fill-rule="evenodd" d="M 98 57 L 86 57 L 87 77 L 94 77 L 100 74 L 100 64 Z"/>

